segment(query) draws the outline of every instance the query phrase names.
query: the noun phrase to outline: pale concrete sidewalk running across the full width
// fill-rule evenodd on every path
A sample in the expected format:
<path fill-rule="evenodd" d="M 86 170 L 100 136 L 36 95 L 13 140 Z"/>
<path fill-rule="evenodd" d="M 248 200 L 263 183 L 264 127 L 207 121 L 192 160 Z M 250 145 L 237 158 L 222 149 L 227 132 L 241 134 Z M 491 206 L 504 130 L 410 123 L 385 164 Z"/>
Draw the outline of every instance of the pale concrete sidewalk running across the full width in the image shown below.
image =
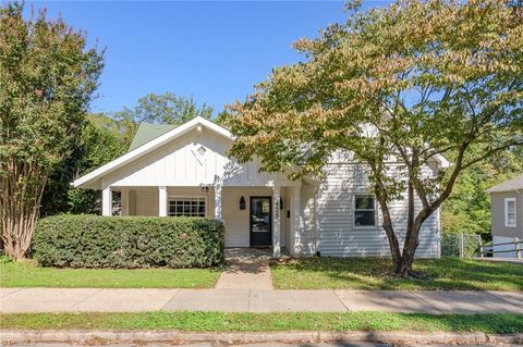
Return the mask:
<path fill-rule="evenodd" d="M 0 288 L 0 312 L 523 313 L 523 293 L 443 290 Z"/>

